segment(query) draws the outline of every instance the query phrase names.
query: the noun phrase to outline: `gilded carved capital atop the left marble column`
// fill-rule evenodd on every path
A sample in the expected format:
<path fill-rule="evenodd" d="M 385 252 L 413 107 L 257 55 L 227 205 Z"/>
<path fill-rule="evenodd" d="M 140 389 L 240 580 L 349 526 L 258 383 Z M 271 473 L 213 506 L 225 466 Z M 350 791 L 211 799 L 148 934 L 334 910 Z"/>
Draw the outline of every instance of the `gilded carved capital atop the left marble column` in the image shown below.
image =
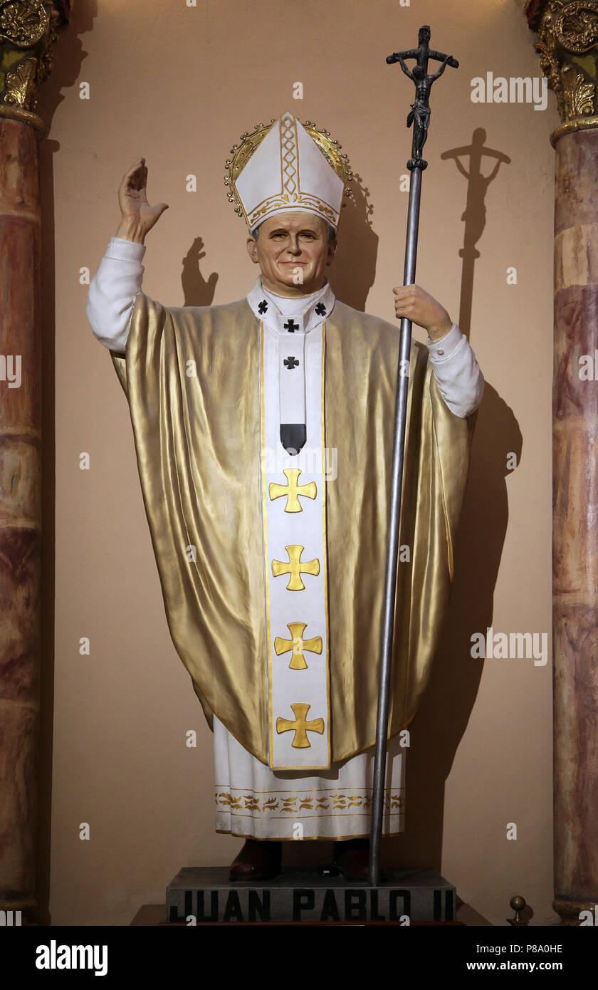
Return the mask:
<path fill-rule="evenodd" d="M 48 126 L 34 113 L 38 91 L 71 7 L 72 0 L 0 0 L 0 117 L 30 124 L 42 137 Z"/>

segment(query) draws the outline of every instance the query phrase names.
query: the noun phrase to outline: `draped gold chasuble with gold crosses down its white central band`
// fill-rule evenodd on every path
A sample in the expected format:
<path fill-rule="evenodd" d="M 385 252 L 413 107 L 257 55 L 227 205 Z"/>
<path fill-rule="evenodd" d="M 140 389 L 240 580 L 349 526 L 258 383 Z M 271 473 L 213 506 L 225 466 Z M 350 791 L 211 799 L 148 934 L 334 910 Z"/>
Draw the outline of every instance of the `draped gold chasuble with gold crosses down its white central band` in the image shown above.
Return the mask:
<path fill-rule="evenodd" d="M 166 308 L 140 292 L 126 354 L 111 351 L 172 642 L 210 727 L 215 713 L 274 769 L 328 766 L 375 741 L 399 336 L 338 300 L 323 323 L 322 443 L 336 449 L 337 473 L 317 479 L 325 545 L 316 561 L 292 541 L 288 559 L 268 547 L 266 500 L 298 512 L 295 485 L 307 486 L 306 498 L 317 486 L 305 471 L 280 472 L 285 498 L 265 484 L 264 327 L 248 300 Z M 413 719 L 439 642 L 475 418 L 449 410 L 428 348 L 414 342 L 400 525 L 409 552 L 398 563 L 389 738 Z M 300 596 L 302 578 L 318 573 L 327 578 L 324 648 L 317 630 L 295 621 L 300 609 L 273 648 L 268 583 L 288 581 Z M 277 671 L 300 678 L 303 650 L 308 664 L 322 664 L 318 705 L 298 689 L 292 711 L 277 710 Z M 297 753 L 290 764 L 272 746 L 283 733 Z"/>

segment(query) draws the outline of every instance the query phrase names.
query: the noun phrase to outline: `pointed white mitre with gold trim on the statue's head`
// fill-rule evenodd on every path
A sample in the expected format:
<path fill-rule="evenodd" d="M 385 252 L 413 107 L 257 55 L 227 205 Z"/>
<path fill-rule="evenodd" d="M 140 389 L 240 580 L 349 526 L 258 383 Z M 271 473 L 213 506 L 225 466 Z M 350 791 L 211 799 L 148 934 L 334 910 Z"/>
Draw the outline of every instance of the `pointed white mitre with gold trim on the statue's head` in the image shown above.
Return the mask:
<path fill-rule="evenodd" d="M 339 226 L 345 184 L 289 111 L 272 124 L 233 185 L 250 231 L 292 210 Z"/>

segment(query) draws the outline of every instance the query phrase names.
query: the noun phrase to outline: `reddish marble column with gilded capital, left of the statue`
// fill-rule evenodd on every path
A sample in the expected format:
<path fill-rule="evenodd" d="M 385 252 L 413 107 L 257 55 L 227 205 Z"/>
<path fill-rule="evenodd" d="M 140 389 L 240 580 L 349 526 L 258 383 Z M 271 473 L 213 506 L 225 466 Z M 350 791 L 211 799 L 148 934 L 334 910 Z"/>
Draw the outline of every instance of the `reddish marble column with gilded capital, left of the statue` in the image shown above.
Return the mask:
<path fill-rule="evenodd" d="M 0 908 L 36 906 L 41 655 L 41 215 L 34 112 L 68 5 L 0 9 Z"/>

